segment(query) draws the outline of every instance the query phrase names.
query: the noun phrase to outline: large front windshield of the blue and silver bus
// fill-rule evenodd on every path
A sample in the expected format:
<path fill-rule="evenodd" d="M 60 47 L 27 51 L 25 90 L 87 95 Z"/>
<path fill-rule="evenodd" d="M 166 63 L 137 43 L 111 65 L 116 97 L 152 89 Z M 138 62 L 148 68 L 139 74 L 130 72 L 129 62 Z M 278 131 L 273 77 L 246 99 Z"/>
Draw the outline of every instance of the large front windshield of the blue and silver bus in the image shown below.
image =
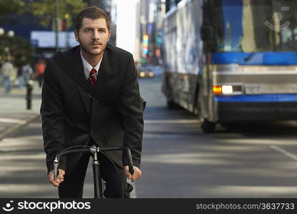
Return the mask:
<path fill-rule="evenodd" d="M 213 1 L 216 52 L 297 51 L 296 0 Z"/>

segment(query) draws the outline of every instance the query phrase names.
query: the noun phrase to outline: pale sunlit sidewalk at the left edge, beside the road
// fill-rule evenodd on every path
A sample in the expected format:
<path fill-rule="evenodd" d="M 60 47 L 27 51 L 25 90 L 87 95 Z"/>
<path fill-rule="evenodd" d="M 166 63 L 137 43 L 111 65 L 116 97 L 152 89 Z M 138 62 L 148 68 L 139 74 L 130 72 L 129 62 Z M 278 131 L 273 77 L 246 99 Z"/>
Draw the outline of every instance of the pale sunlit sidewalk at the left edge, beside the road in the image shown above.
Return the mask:
<path fill-rule="evenodd" d="M 34 82 L 31 110 L 26 109 L 26 87 L 13 86 L 10 93 L 0 88 L 0 141 L 39 117 L 41 88 Z"/>

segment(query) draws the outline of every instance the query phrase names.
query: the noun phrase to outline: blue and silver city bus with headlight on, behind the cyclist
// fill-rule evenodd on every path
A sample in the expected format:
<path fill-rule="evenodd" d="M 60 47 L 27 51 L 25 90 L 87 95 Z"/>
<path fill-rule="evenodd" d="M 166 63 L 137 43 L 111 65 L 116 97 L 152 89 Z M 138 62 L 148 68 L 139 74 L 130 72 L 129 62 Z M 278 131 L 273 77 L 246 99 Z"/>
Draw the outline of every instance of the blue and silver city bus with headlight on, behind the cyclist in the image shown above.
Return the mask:
<path fill-rule="evenodd" d="M 183 0 L 163 19 L 168 108 L 216 124 L 297 119 L 296 0 Z"/>

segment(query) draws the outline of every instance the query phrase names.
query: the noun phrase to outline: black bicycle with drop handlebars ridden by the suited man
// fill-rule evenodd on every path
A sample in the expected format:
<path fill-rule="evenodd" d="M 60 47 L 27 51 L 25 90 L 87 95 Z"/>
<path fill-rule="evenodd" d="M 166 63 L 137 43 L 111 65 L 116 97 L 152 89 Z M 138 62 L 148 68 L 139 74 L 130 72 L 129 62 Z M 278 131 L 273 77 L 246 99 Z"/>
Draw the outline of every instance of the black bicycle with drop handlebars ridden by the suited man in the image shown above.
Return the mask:
<path fill-rule="evenodd" d="M 81 148 L 78 148 L 81 147 Z M 71 149 L 71 148 L 76 148 L 76 149 Z M 104 147 L 104 148 L 100 148 L 99 146 L 93 145 L 93 146 L 71 146 L 69 148 L 65 148 L 63 151 L 61 151 L 60 153 L 58 153 L 56 155 L 56 158 L 54 160 L 54 180 L 57 179 L 58 175 L 59 175 L 59 160 L 62 156 L 66 156 L 69 153 L 91 153 L 93 156 L 93 175 L 94 175 L 94 198 L 103 198 L 103 178 L 101 176 L 101 172 L 100 172 L 100 163 L 98 160 L 98 153 L 102 153 L 104 154 L 107 158 L 109 158 L 109 156 L 107 156 L 104 151 L 123 151 L 124 154 L 126 155 L 126 160 L 128 161 L 129 164 L 129 173 L 131 173 L 131 175 L 133 175 L 134 173 L 134 168 L 133 168 L 133 163 L 132 163 L 132 158 L 131 158 L 131 151 L 128 147 L 126 146 L 114 146 L 114 147 Z M 111 161 L 111 159 L 109 158 L 109 160 Z M 113 161 L 111 161 L 111 163 L 114 164 Z M 116 165 L 114 164 L 114 167 L 116 167 Z M 116 170 L 118 170 L 116 168 Z M 119 173 L 119 170 L 118 170 Z M 124 185 L 122 183 L 122 190 L 124 191 Z M 124 192 L 123 192 L 124 195 Z M 122 198 L 123 198 L 122 195 Z"/>

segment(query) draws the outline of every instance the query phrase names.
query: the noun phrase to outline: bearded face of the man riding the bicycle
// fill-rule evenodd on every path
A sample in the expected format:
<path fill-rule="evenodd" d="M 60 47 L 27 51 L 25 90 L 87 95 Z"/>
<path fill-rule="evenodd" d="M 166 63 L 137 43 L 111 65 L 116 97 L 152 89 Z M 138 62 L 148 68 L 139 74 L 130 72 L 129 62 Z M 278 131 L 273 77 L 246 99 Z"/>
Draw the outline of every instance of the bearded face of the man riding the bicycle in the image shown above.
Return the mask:
<path fill-rule="evenodd" d="M 76 41 L 81 45 L 81 50 L 91 56 L 103 53 L 111 35 L 107 29 L 104 18 L 84 18 L 79 31 L 74 31 Z"/>

